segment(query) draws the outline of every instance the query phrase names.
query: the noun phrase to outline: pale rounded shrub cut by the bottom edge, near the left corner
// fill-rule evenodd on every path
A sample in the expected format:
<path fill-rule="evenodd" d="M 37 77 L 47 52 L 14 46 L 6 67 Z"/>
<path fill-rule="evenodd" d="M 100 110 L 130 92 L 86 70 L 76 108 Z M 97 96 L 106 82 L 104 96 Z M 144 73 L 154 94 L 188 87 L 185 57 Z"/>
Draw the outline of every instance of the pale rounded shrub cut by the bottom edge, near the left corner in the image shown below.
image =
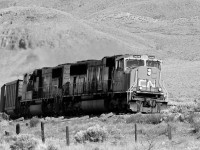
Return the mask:
<path fill-rule="evenodd" d="M 38 142 L 29 134 L 21 134 L 13 137 L 14 143 L 10 146 L 11 150 L 34 150 Z"/>

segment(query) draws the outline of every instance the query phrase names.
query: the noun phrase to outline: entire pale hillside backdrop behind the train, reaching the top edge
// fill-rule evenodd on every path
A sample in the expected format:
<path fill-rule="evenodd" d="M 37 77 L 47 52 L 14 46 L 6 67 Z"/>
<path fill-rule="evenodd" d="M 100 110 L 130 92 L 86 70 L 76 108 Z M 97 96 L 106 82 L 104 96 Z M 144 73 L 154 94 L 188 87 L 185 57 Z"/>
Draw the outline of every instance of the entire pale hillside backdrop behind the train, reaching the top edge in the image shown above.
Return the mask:
<path fill-rule="evenodd" d="M 154 54 L 170 98 L 199 99 L 198 0 L 0 0 L 0 8 L 0 84 L 42 66 Z"/>

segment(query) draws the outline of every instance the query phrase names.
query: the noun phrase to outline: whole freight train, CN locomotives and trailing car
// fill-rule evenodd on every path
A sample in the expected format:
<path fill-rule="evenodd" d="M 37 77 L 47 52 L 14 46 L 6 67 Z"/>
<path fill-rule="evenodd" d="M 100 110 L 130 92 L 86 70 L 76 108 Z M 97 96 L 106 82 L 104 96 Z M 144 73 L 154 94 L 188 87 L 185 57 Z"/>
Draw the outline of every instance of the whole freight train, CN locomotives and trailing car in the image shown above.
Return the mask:
<path fill-rule="evenodd" d="M 128 54 L 36 69 L 1 87 L 0 111 L 17 117 L 159 113 L 167 107 L 161 64 L 155 56 Z"/>

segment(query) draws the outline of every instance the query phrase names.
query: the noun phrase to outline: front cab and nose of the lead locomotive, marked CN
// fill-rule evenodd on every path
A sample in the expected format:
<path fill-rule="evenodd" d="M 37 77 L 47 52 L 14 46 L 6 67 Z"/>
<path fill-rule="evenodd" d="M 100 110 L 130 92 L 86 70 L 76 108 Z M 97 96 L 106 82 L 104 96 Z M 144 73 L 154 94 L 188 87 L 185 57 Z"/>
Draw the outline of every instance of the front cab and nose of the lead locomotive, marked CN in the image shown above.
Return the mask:
<path fill-rule="evenodd" d="M 127 90 L 127 103 L 132 111 L 160 112 L 167 106 L 161 64 L 161 60 L 148 55 L 125 55 L 116 59 L 116 70 L 124 72 L 121 87 Z"/>

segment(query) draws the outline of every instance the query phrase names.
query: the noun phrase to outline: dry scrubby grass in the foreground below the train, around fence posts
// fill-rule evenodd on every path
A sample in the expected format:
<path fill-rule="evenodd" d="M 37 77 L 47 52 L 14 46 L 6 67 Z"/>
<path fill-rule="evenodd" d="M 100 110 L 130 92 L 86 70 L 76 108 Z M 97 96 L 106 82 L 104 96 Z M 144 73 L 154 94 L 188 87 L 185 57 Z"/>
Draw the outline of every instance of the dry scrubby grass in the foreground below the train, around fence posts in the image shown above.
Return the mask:
<path fill-rule="evenodd" d="M 152 114 L 153 115 L 153 114 Z M 133 117 L 134 116 L 134 117 Z M 141 115 L 140 115 L 141 116 Z M 34 141 L 36 141 L 36 149 L 40 150 L 62 150 L 62 149 L 87 149 L 87 150 L 94 150 L 94 149 L 181 149 L 184 145 L 190 145 L 187 141 L 194 139 L 194 137 L 198 136 L 198 134 L 190 134 L 191 131 L 193 131 L 194 127 L 192 126 L 192 123 L 189 121 L 180 122 L 180 121 L 171 121 L 170 125 L 172 127 L 172 139 L 173 141 L 168 140 L 168 133 L 167 133 L 167 123 L 165 121 L 162 121 L 161 123 L 158 123 L 157 118 L 158 114 L 154 114 L 154 117 L 150 117 L 151 115 L 142 114 L 142 118 L 145 120 L 143 122 L 137 121 L 137 133 L 138 133 L 138 142 L 134 142 L 135 138 L 135 129 L 134 129 L 134 121 L 135 119 L 139 118 L 139 114 L 131 115 L 128 117 L 128 115 L 122 117 L 122 116 L 112 116 L 111 118 L 107 119 L 107 121 L 102 121 L 101 118 L 95 117 L 94 119 L 87 118 L 85 120 L 81 119 L 72 119 L 72 120 L 66 120 L 66 121 L 59 121 L 58 119 L 54 120 L 53 118 L 49 121 L 46 121 L 45 123 L 45 143 L 43 144 L 41 142 L 41 129 L 40 126 L 36 126 L 34 128 L 30 128 L 26 126 L 26 123 L 29 122 L 28 120 L 21 122 L 21 135 L 16 136 L 15 135 L 15 125 L 16 123 L 7 124 L 7 126 L 2 125 L 1 130 L 7 130 L 12 135 L 5 136 L 1 135 L 1 145 L 2 147 L 9 148 L 10 145 L 13 145 L 13 147 L 17 146 L 31 146 Z M 149 119 L 145 119 L 149 118 Z M 196 114 L 196 117 L 198 118 L 199 115 Z M 195 118 L 194 117 L 194 120 Z M 117 120 L 120 121 L 117 122 Z M 126 123 L 125 120 L 132 119 L 130 123 Z M 134 119 L 133 119 L 134 118 Z M 155 119 L 156 118 L 156 119 Z M 156 124 L 155 124 L 156 122 Z M 2 122 L 3 123 L 3 122 Z M 97 125 L 97 126 L 95 126 Z M 66 126 L 69 127 L 69 134 L 70 134 L 70 146 L 66 146 L 66 140 L 65 140 L 65 129 Z M 102 128 L 103 127 L 103 128 Z M 190 129 L 190 130 L 189 130 Z M 89 135 L 90 139 L 85 140 L 83 143 L 77 143 L 76 137 L 77 133 L 80 133 L 80 131 L 85 131 L 84 133 L 87 133 L 86 135 Z M 104 140 L 101 140 L 102 137 L 104 137 L 104 131 L 106 131 L 107 138 L 104 138 Z M 197 130 L 196 130 L 197 131 Z M 3 132 L 2 132 L 3 133 Z M 28 140 L 28 138 L 22 138 L 19 137 L 24 134 L 29 134 L 25 137 L 32 137 L 35 140 Z M 186 137 L 185 137 L 186 136 Z M 184 138 L 187 138 L 188 140 L 184 140 Z M 27 139 L 27 140 L 26 140 Z M 100 140 L 95 140 L 100 139 Z M 91 142 L 96 141 L 96 142 Z M 102 142 L 103 141 L 103 142 Z M 179 143 L 174 145 L 173 142 Z M 198 139 L 195 140 L 194 147 L 199 145 Z M 6 149 L 5 148 L 5 149 Z"/>

